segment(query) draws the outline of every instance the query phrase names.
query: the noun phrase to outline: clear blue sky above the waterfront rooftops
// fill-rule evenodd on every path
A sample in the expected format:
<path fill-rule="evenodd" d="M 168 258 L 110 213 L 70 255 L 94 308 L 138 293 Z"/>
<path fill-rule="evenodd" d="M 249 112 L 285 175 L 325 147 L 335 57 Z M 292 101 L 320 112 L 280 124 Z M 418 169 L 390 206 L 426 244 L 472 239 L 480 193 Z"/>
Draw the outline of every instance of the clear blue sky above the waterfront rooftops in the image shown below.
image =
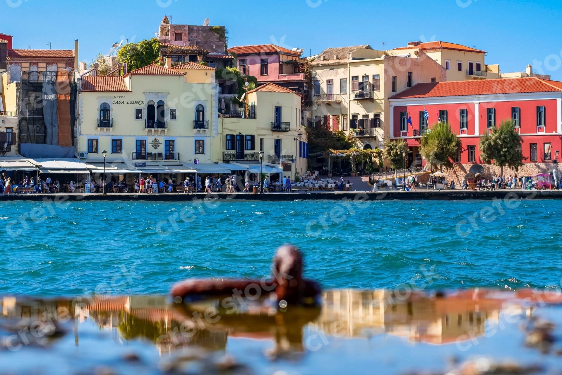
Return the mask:
<path fill-rule="evenodd" d="M 444 40 L 488 51 L 487 64 L 522 71 L 534 60 L 562 80 L 562 2 L 552 0 L 0 0 L 0 32 L 14 48 L 72 49 L 91 61 L 121 38 L 154 36 L 164 15 L 173 24 L 224 25 L 229 46 L 276 43 L 305 48 L 370 44 L 375 49 L 413 40 Z M 282 5 L 280 5 L 282 4 Z M 284 39 L 283 39 L 284 38 Z M 533 64 L 534 65 L 534 64 Z"/>

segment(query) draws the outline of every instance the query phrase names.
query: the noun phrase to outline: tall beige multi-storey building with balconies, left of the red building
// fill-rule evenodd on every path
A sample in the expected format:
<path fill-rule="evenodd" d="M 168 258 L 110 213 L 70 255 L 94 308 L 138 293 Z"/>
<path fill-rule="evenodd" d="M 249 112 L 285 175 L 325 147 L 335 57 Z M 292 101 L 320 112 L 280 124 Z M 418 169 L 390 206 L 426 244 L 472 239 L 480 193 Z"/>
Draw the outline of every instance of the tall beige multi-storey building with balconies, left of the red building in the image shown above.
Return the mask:
<path fill-rule="evenodd" d="M 311 61 L 316 126 L 353 132 L 364 148 L 389 138 L 388 98 L 422 82 L 446 80 L 445 69 L 423 51 L 327 48 Z"/>

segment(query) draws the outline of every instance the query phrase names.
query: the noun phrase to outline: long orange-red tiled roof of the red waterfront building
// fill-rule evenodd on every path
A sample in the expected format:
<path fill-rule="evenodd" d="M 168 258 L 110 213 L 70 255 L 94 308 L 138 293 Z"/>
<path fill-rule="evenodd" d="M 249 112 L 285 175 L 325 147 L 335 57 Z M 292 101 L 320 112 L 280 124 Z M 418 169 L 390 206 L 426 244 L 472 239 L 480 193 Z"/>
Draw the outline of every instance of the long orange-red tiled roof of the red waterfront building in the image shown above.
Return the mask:
<path fill-rule="evenodd" d="M 414 87 L 392 96 L 391 99 L 534 92 L 562 92 L 562 82 L 532 77 L 418 83 Z"/>

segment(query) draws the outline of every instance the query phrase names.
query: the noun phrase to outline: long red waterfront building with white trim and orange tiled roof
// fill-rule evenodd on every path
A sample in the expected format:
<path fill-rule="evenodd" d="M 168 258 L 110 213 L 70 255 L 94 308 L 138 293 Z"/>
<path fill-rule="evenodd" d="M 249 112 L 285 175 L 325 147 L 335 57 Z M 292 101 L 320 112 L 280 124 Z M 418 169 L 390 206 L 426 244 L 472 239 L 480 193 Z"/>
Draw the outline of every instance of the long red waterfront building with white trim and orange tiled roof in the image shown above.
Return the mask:
<path fill-rule="evenodd" d="M 515 121 L 523 138 L 523 175 L 552 170 L 555 150 L 562 151 L 562 82 L 513 78 L 420 83 L 389 101 L 391 138 L 406 140 L 412 151 L 410 165 L 425 164 L 419 155 L 419 139 L 438 121 L 450 124 L 460 138 L 455 162 L 466 172 L 482 164 L 480 138 L 502 120 Z M 486 169 L 499 171 L 494 166 Z"/>

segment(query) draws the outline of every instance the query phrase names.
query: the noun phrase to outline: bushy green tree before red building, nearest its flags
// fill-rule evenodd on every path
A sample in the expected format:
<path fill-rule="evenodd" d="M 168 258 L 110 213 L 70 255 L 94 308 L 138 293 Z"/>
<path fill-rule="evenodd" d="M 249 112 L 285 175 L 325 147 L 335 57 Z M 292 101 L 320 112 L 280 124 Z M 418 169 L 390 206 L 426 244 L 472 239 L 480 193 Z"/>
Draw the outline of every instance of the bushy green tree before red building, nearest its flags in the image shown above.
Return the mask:
<path fill-rule="evenodd" d="M 460 140 L 452 132 L 451 126 L 445 123 L 434 124 L 429 132 L 420 139 L 420 153 L 430 165 L 438 164 L 452 168 L 452 160 L 459 155 Z"/>

